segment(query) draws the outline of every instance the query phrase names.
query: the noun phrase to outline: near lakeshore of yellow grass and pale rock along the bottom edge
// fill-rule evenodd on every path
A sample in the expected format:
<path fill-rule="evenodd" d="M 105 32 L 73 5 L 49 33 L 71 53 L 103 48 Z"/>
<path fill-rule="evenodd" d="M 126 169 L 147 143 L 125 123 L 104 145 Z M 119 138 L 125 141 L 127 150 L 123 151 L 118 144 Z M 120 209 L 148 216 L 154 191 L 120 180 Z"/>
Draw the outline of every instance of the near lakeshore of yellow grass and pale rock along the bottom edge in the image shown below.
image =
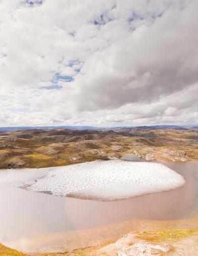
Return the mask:
<path fill-rule="evenodd" d="M 0 244 L 1 256 L 30 256 Z M 129 233 L 117 241 L 65 253 L 37 256 L 198 256 L 198 230 L 175 229 Z"/>

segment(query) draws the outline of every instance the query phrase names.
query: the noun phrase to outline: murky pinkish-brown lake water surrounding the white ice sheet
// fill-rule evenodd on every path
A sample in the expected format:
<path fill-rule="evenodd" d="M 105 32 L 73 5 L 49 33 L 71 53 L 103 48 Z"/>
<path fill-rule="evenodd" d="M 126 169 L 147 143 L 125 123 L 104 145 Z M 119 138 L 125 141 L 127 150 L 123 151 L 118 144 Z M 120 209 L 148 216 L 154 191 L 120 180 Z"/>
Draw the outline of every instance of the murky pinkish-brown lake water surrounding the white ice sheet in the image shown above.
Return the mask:
<path fill-rule="evenodd" d="M 123 159 L 142 160 L 129 154 Z M 0 171 L 0 242 L 24 252 L 64 251 L 95 245 L 132 230 L 156 229 L 162 223 L 170 228 L 198 227 L 198 222 L 191 221 L 198 216 L 198 181 L 194 175 L 198 162 L 163 164 L 183 175 L 187 184 L 175 191 L 115 202 L 55 197 L 6 183 L 19 176 L 37 179 L 45 169 Z M 111 228 L 107 232 L 108 225 Z"/>

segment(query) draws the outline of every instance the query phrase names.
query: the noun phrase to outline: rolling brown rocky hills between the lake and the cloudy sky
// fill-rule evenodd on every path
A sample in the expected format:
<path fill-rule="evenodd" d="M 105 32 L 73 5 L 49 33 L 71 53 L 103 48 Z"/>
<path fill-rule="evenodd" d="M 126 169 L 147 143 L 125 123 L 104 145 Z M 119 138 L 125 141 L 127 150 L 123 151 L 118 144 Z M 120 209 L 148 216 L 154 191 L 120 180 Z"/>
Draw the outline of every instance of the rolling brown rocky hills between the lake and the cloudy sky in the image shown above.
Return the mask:
<path fill-rule="evenodd" d="M 60 166 L 126 153 L 148 160 L 198 160 L 198 128 L 0 132 L 0 168 Z"/>

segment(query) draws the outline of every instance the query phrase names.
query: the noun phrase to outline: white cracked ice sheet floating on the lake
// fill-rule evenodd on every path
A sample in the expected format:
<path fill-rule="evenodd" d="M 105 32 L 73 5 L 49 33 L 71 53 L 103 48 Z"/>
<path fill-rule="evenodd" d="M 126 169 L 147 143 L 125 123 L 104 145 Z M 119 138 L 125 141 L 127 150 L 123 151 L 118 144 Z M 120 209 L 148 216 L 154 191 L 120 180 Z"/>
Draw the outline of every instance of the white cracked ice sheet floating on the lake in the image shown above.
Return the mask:
<path fill-rule="evenodd" d="M 15 186 L 56 196 L 116 201 L 174 190 L 186 183 L 180 174 L 153 162 L 97 160 L 45 169 L 43 178 Z"/>

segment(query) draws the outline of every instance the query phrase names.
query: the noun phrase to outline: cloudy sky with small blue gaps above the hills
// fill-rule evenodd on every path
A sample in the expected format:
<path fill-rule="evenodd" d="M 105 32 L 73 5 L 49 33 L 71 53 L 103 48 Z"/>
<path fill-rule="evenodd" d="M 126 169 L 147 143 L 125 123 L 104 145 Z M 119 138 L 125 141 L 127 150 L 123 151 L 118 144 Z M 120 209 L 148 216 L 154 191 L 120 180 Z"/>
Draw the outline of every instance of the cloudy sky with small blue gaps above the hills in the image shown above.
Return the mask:
<path fill-rule="evenodd" d="M 0 126 L 198 123 L 197 0 L 0 0 Z"/>

